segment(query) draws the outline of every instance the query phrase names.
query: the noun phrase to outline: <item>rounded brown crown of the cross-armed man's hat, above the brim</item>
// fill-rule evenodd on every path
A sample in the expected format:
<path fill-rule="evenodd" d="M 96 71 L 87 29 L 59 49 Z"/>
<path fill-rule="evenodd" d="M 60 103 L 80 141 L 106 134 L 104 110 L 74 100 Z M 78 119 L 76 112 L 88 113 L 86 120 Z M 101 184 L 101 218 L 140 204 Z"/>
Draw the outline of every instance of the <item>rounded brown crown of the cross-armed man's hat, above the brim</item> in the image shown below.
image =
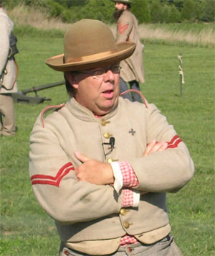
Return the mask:
<path fill-rule="evenodd" d="M 101 52 L 115 52 L 116 44 L 109 27 L 98 20 L 82 19 L 67 30 L 64 40 L 65 63 Z"/>

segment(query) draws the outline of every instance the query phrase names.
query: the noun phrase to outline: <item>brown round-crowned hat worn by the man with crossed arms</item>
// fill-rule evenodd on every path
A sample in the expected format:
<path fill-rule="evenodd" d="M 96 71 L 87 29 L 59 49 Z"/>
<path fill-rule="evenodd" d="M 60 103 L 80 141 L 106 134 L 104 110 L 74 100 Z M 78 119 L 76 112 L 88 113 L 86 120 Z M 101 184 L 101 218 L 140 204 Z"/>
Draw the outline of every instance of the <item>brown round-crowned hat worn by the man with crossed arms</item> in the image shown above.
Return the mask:
<path fill-rule="evenodd" d="M 82 19 L 67 30 L 64 49 L 64 54 L 49 58 L 45 63 L 62 72 L 102 67 L 130 57 L 135 43 L 115 43 L 106 24 L 95 19 Z"/>

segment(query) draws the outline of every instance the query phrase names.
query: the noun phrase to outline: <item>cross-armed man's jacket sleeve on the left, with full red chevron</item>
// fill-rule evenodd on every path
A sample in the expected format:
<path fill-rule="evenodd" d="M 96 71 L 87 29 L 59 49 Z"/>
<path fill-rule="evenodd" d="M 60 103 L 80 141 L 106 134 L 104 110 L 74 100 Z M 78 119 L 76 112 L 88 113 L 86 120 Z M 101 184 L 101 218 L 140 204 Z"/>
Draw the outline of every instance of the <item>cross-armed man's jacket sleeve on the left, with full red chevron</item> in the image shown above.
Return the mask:
<path fill-rule="evenodd" d="M 65 125 L 64 119 L 58 121 L 62 127 Z M 74 172 L 76 164 L 54 129 L 54 119 L 53 122 L 45 120 L 43 128 L 38 118 L 30 137 L 29 174 L 43 209 L 62 224 L 118 213 L 122 196 L 118 196 L 112 186 L 78 181 Z"/>

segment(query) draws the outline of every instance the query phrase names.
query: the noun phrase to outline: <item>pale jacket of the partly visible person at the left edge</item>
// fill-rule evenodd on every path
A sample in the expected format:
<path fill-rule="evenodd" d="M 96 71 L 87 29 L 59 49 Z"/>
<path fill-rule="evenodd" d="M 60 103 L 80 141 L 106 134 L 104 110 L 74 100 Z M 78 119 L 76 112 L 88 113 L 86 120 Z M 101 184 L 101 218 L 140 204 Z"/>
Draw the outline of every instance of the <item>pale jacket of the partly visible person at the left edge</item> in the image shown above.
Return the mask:
<path fill-rule="evenodd" d="M 9 54 L 9 35 L 14 28 L 14 24 L 7 16 L 6 12 L 0 8 L 0 73 L 4 70 Z M 17 92 L 16 84 L 17 68 L 14 60 L 9 60 L 6 65 L 4 80 L 0 82 L 0 93 Z M 1 87 L 1 85 L 3 85 Z"/>

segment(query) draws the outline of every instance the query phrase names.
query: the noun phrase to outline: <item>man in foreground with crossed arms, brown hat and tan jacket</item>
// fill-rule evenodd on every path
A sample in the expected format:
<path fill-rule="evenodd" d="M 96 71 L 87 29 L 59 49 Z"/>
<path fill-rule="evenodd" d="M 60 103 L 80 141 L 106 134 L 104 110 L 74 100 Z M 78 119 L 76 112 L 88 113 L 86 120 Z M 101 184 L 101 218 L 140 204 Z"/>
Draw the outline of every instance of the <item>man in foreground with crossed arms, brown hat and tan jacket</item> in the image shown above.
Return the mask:
<path fill-rule="evenodd" d="M 39 114 L 29 175 L 61 256 L 182 255 L 166 193 L 191 180 L 194 163 L 154 104 L 119 97 L 119 63 L 134 50 L 106 24 L 82 19 L 65 33 L 64 53 L 46 60 L 65 74 L 69 99 Z"/>

